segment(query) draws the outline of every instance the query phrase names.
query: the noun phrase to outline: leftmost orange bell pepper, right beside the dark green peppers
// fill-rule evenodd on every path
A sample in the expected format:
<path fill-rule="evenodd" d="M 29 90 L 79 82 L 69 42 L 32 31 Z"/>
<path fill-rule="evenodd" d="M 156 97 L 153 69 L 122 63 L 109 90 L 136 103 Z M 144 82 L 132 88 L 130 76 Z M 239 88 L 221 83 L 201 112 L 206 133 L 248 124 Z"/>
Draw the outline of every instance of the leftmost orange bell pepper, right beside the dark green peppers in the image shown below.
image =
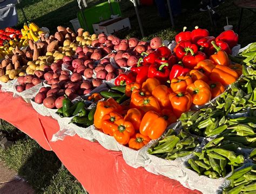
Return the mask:
<path fill-rule="evenodd" d="M 112 99 L 112 100 L 111 100 Z M 97 104 L 96 111 L 94 114 L 94 125 L 98 129 L 102 129 L 102 118 L 109 114 L 110 112 L 115 112 L 120 110 L 120 107 L 117 106 L 117 102 L 113 98 L 109 98 L 106 101 L 100 101 Z"/>

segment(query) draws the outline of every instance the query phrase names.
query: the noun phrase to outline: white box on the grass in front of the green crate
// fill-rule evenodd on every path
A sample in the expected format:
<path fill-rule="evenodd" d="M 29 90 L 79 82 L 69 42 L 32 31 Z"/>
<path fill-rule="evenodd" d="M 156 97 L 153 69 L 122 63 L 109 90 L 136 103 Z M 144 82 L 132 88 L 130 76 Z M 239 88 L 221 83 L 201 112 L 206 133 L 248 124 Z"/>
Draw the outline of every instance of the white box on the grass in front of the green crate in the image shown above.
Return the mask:
<path fill-rule="evenodd" d="M 93 30 L 96 34 L 105 33 L 112 34 L 114 32 L 131 29 L 129 18 L 113 18 L 110 20 L 102 21 L 98 24 L 92 24 Z"/>

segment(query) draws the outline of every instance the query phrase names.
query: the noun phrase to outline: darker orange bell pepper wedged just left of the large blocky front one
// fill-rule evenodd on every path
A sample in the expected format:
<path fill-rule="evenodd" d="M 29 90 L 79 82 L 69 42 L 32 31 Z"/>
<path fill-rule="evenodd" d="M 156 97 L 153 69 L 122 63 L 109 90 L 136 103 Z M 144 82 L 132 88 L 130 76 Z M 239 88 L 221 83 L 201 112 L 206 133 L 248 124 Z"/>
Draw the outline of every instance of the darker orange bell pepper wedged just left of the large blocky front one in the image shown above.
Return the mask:
<path fill-rule="evenodd" d="M 124 120 L 131 122 L 134 130 L 139 131 L 139 125 L 142 122 L 142 117 L 142 113 L 138 109 L 133 108 L 127 111 Z"/>

